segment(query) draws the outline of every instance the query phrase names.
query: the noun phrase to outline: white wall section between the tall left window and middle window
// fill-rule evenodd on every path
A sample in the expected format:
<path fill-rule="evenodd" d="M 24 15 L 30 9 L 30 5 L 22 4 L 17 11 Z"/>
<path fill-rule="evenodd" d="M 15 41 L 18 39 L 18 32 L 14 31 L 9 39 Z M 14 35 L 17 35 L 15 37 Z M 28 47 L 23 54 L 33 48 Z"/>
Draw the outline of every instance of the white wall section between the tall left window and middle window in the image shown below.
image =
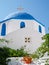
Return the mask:
<path fill-rule="evenodd" d="M 20 23 L 22 21 L 23 20 L 15 20 L 15 19 L 7 21 L 7 31 L 6 31 L 7 34 L 20 29 Z"/>

